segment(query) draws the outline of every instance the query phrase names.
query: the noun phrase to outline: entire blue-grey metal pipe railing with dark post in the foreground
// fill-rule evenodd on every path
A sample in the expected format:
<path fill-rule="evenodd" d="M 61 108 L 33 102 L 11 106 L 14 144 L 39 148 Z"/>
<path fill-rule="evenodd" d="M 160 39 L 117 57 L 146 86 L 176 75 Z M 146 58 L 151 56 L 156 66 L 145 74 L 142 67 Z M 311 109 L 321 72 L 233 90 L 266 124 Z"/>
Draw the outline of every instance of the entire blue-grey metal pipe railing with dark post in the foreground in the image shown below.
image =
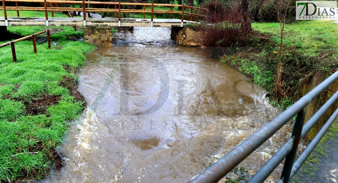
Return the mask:
<path fill-rule="evenodd" d="M 325 132 L 329 129 L 333 121 L 338 116 L 338 109 L 331 115 L 328 121 L 323 125 L 321 130 L 317 133 L 314 139 L 306 147 L 306 149 L 295 160 L 297 147 L 299 141 L 311 130 L 313 125 L 324 115 L 326 111 L 338 99 L 338 91 L 325 102 L 325 104 L 304 124 L 305 110 L 304 108 L 311 103 L 317 96 L 319 96 L 325 89 L 327 89 L 333 82 L 338 79 L 338 71 L 325 79 L 321 84 L 301 97 L 292 106 L 275 117 L 263 128 L 251 135 L 244 142 L 234 148 L 234 150 L 227 153 L 223 158 L 205 169 L 201 174 L 194 178 L 192 183 L 216 183 L 229 173 L 235 166 L 254 152 L 267 139 L 281 129 L 289 120 L 295 115 L 296 121 L 292 131 L 291 138 L 277 151 L 262 167 L 251 177 L 248 181 L 250 183 L 264 182 L 272 171 L 285 159 L 281 180 L 279 183 L 287 183 L 296 174 L 300 166 L 305 162 L 306 158 L 313 151 L 319 140 L 323 137 Z"/>

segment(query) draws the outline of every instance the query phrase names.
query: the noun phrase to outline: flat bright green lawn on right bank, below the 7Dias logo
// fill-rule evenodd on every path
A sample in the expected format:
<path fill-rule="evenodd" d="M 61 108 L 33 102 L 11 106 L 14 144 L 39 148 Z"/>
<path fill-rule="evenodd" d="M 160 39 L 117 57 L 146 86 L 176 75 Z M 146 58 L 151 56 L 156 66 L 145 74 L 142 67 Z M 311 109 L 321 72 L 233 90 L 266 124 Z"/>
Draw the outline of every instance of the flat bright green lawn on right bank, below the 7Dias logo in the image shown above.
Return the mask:
<path fill-rule="evenodd" d="M 338 26 L 332 21 L 300 21 L 286 24 L 285 45 L 295 46 L 297 51 L 308 56 L 317 56 L 321 50 L 338 48 Z M 271 39 L 280 44 L 279 23 L 252 23 L 252 28 L 270 33 Z"/>

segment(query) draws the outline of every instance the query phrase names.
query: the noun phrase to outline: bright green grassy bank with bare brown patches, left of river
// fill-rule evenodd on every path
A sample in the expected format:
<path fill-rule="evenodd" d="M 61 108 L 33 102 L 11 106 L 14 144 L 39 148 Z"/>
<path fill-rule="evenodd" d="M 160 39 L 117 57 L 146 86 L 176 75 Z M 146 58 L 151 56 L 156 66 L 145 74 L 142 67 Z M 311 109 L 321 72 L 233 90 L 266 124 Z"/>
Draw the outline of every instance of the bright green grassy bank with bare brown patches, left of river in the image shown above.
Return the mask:
<path fill-rule="evenodd" d="M 40 28 L 44 27 L 9 30 L 27 35 Z M 59 165 L 54 148 L 67 132 L 67 120 L 78 118 L 84 109 L 73 71 L 86 59 L 84 53 L 95 49 L 86 42 L 63 39 L 70 34 L 77 33 L 65 28 L 64 35 L 58 33 L 64 36 L 61 39 L 53 35 L 57 45 L 52 49 L 38 42 L 36 54 L 31 41 L 15 43 L 17 63 L 10 46 L 0 48 L 1 182 L 41 178 L 55 161 Z"/>

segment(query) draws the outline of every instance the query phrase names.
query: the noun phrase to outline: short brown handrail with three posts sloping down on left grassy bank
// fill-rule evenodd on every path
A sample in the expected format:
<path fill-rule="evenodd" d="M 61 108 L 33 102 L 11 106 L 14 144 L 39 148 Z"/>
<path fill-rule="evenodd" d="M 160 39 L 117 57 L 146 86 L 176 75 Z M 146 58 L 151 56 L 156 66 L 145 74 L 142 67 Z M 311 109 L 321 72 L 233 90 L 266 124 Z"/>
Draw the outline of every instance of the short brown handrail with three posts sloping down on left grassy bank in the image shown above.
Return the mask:
<path fill-rule="evenodd" d="M 7 45 L 10 45 L 10 47 L 12 49 L 13 62 L 17 62 L 17 54 L 15 52 L 14 43 L 19 42 L 19 41 L 23 41 L 23 40 L 28 39 L 28 38 L 32 38 L 33 51 L 34 51 L 34 53 L 38 53 L 38 51 L 37 51 L 37 42 L 35 41 L 35 36 L 38 36 L 38 35 L 40 35 L 42 33 L 45 33 L 45 32 L 47 32 L 47 42 L 48 42 L 48 48 L 47 49 L 50 49 L 50 34 L 49 34 L 49 30 L 43 30 L 43 31 L 35 33 L 35 34 L 29 35 L 29 36 L 25 36 L 23 38 L 19 38 L 19 39 L 16 39 L 16 40 L 13 40 L 13 41 L 1 44 L 0 48 L 2 48 L 4 46 L 7 46 Z"/>

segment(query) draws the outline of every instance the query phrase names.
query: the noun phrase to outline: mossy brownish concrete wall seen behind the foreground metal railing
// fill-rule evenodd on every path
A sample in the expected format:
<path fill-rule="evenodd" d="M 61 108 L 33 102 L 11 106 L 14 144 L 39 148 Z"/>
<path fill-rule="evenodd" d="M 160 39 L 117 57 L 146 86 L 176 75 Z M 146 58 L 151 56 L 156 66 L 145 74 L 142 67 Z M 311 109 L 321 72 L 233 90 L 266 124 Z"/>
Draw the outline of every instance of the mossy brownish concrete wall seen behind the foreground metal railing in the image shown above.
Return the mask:
<path fill-rule="evenodd" d="M 310 81 L 305 84 L 302 88 L 302 96 L 307 94 L 309 91 L 318 86 L 321 82 L 323 82 L 327 78 L 327 74 L 322 72 L 316 72 Z M 305 122 L 308 121 L 313 114 L 315 114 L 318 109 L 328 100 L 330 97 L 338 90 L 338 81 L 335 81 L 327 90 L 325 90 L 321 95 L 319 95 L 316 99 L 314 99 L 307 107 L 305 114 Z M 337 109 L 338 102 L 336 102 L 319 120 L 318 123 L 314 125 L 314 127 L 308 133 L 309 139 L 313 139 L 323 124 L 330 118 L 332 113 Z"/>

